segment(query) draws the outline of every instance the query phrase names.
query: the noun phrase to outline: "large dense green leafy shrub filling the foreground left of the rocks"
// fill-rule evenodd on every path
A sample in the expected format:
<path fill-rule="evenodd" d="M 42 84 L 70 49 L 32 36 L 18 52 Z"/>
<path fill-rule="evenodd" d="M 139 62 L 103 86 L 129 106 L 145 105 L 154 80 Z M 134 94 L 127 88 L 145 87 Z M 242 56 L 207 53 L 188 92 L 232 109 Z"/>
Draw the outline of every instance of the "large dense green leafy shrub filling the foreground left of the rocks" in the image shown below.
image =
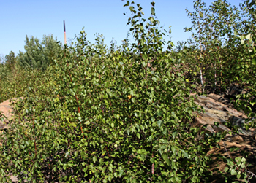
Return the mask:
<path fill-rule="evenodd" d="M 9 174 L 20 182 L 210 181 L 208 165 L 219 155 L 207 152 L 225 133 L 191 127 L 192 111 L 200 108 L 189 99 L 187 71 L 203 71 L 203 65 L 189 68 L 188 61 L 202 52 L 195 46 L 173 53 L 173 44 L 162 38 L 166 31 L 158 26 L 154 2 L 148 19 L 133 4 L 124 6 L 132 12 L 134 43 L 125 39 L 108 50 L 102 35 L 90 44 L 80 31 L 52 66 L 22 70 L 18 83 L 4 87 L 5 98 L 15 93 L 24 100 L 15 104 L 11 128 L 1 136 L 1 182 Z M 245 160 L 237 161 L 235 166 L 227 159 L 225 171 L 246 179 L 236 173 L 246 168 Z"/>

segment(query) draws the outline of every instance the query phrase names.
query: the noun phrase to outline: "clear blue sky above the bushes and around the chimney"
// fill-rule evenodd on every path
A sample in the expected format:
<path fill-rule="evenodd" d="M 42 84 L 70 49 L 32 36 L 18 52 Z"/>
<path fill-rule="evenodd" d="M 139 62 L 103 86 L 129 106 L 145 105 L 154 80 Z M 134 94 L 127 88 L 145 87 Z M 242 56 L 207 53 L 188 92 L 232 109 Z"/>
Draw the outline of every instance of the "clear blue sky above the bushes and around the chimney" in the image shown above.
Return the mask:
<path fill-rule="evenodd" d="M 208 7 L 214 0 L 205 0 Z M 130 1 L 131 2 L 131 1 Z M 151 0 L 135 0 L 143 7 L 145 17 L 150 16 Z M 229 0 L 232 5 L 243 0 Z M 112 38 L 117 44 L 127 37 L 130 26 L 127 25 L 130 15 L 129 7 L 121 0 L 0 0 L 0 55 L 7 55 L 12 50 L 18 55 L 24 52 L 26 35 L 37 37 L 51 35 L 64 42 L 63 20 L 66 23 L 67 44 L 75 34 L 80 34 L 84 27 L 87 39 L 93 43 L 94 34 L 105 36 L 105 44 L 110 45 Z M 172 26 L 172 41 L 186 41 L 190 33 L 184 27 L 191 26 L 185 9 L 193 11 L 193 0 L 155 0 L 157 20 L 160 26 L 168 30 Z M 167 39 L 167 38 L 166 38 Z"/>

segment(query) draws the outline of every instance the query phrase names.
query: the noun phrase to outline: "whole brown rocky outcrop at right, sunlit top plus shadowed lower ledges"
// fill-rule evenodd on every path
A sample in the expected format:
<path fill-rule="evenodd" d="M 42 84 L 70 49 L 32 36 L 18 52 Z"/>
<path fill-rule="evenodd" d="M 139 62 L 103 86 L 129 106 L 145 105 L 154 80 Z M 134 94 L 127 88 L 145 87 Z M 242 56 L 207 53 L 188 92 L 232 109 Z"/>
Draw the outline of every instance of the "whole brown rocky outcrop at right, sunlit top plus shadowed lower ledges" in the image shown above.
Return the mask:
<path fill-rule="evenodd" d="M 230 90 L 232 91 L 232 90 Z M 222 141 L 219 141 L 219 148 L 214 147 L 209 149 L 208 155 L 211 154 L 220 154 L 225 157 L 235 158 L 235 157 L 245 157 L 246 161 L 251 164 L 249 167 L 249 172 L 256 173 L 256 129 L 246 130 L 243 128 L 243 124 L 246 122 L 246 115 L 242 112 L 238 112 L 233 108 L 233 105 L 230 103 L 228 98 L 219 96 L 216 94 L 209 94 L 208 96 L 197 96 L 192 94 L 195 98 L 195 103 L 199 106 L 202 106 L 204 113 L 193 112 L 195 114 L 195 120 L 192 123 L 193 127 L 200 127 L 206 125 L 206 131 L 211 133 L 231 131 L 230 128 L 227 128 L 224 125 L 225 122 L 230 122 L 231 127 L 236 125 L 238 127 L 238 134 L 227 134 Z M 214 122 L 217 122 L 219 125 L 215 125 Z M 231 151 L 230 149 L 239 149 Z M 219 169 L 224 171 L 226 163 L 222 160 L 216 160 L 216 163 L 211 165 L 211 169 Z M 252 174 L 247 174 L 252 175 Z M 217 178 L 219 175 L 214 175 L 215 182 L 222 182 L 223 180 Z M 256 177 L 255 177 L 256 178 Z M 251 181 L 256 181 L 252 179 Z"/>

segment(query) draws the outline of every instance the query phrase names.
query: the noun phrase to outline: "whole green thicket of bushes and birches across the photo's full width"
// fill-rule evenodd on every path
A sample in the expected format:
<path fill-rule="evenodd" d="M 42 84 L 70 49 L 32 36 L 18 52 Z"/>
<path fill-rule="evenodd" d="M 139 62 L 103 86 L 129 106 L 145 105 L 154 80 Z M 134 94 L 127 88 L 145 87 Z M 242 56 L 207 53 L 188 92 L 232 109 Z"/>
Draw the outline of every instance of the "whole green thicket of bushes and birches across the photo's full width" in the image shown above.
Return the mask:
<path fill-rule="evenodd" d="M 24 97 L 1 136 L 0 181 L 13 174 L 20 182 L 210 182 L 219 157 L 231 174 L 224 179 L 246 182 L 245 158 L 207 154 L 226 132 L 192 128 L 192 112 L 201 109 L 188 98 L 200 85 L 217 93 L 238 82 L 250 93 L 236 106 L 254 117 L 253 2 L 244 2 L 251 17 L 243 20 L 227 1 L 208 9 L 195 1 L 195 12 L 187 11 L 192 39 L 177 50 L 163 39 L 154 1 L 148 18 L 140 4 L 124 4 L 135 42 L 119 47 L 108 49 L 100 34 L 91 44 L 83 30 L 72 47 L 26 37 L 30 50 L 15 58 L 12 78 L 12 62 L 0 68 L 1 101 Z"/>

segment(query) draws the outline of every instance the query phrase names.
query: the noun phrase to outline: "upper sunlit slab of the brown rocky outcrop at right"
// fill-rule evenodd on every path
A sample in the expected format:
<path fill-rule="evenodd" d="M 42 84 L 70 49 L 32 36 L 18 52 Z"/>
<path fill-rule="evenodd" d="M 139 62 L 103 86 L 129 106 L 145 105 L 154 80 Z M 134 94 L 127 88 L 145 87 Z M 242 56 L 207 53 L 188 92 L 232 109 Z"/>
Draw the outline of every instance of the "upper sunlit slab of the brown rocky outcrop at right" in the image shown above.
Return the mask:
<path fill-rule="evenodd" d="M 239 135 L 255 137 L 255 129 L 243 128 L 243 124 L 246 120 L 246 115 L 242 112 L 238 112 L 233 109 L 233 105 L 227 98 L 216 94 L 209 94 L 208 96 L 197 96 L 192 94 L 195 98 L 195 104 L 202 106 L 204 113 L 194 112 L 196 115 L 193 126 L 207 125 L 207 130 L 211 133 L 219 131 L 231 131 L 230 128 L 224 125 L 225 122 L 230 122 L 232 125 L 238 126 Z M 219 125 L 214 125 L 214 122 L 218 122 Z"/>

